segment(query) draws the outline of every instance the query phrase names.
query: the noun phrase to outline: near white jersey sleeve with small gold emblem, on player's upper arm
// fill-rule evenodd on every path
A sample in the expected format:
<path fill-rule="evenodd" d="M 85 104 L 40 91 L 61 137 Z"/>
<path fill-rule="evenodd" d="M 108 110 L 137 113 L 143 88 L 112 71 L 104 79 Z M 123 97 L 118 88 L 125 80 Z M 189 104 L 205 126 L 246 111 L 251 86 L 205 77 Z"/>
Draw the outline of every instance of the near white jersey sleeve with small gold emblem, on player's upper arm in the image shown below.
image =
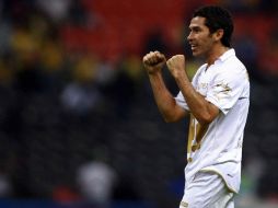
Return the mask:
<path fill-rule="evenodd" d="M 245 78 L 242 71 L 236 73 L 219 73 L 210 83 L 206 100 L 216 105 L 223 114 L 240 99 Z"/>

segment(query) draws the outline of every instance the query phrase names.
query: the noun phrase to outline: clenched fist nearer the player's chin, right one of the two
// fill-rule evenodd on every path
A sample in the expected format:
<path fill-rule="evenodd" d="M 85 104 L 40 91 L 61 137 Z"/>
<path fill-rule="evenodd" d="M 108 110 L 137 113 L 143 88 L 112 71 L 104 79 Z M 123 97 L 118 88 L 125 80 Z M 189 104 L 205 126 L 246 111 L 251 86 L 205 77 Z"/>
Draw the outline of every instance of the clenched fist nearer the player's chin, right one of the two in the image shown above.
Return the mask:
<path fill-rule="evenodd" d="M 184 55 L 175 55 L 167 61 L 169 71 L 174 78 L 178 78 L 185 73 L 185 57 Z"/>

